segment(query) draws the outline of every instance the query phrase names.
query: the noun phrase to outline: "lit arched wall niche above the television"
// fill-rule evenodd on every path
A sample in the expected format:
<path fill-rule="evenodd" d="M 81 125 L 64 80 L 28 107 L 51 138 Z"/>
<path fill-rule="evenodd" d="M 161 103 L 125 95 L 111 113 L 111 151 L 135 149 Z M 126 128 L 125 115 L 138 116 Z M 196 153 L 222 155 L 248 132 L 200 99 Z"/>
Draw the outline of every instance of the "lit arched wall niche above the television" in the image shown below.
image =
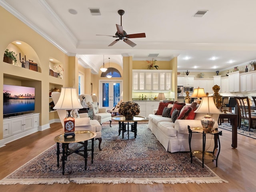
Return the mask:
<path fill-rule="evenodd" d="M 19 42 L 20 44 L 17 44 L 17 42 Z M 14 41 L 14 42 L 11 42 L 6 47 L 6 49 L 8 49 L 9 51 L 15 52 L 15 55 L 17 54 L 17 56 L 16 56 L 17 63 L 16 64 L 13 63 L 13 65 L 22 67 L 23 61 L 25 62 L 25 61 L 31 60 L 37 64 L 37 71 L 42 72 L 38 55 L 36 54 L 35 50 L 29 44 L 27 44 L 23 41 Z M 4 56 L 4 54 L 3 54 L 3 56 Z M 22 58 L 24 60 L 22 60 Z M 26 58 L 26 60 L 25 60 L 25 58 Z"/>

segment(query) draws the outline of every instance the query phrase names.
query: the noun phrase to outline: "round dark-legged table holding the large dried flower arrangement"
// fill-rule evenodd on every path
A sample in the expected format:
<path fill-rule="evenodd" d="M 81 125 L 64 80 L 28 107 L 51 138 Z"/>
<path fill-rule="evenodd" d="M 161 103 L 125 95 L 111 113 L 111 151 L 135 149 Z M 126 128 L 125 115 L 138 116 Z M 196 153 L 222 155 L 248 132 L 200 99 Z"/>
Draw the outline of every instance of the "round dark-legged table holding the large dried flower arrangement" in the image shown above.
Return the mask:
<path fill-rule="evenodd" d="M 132 120 L 126 120 L 123 115 L 112 117 L 112 120 L 118 121 L 118 124 L 119 124 L 118 133 L 119 133 L 119 135 L 121 134 L 121 131 L 122 131 L 122 138 L 124 138 L 124 133 L 128 132 L 128 139 L 129 139 L 129 132 L 134 132 L 134 138 L 136 138 L 136 136 L 137 136 L 137 122 L 145 120 L 145 119 L 146 119 L 146 117 L 139 116 L 139 115 L 134 116 Z M 127 122 L 127 123 L 125 123 L 125 122 Z M 127 129 L 126 129 L 126 125 L 127 125 Z M 129 125 L 131 126 L 130 130 L 129 130 Z"/>

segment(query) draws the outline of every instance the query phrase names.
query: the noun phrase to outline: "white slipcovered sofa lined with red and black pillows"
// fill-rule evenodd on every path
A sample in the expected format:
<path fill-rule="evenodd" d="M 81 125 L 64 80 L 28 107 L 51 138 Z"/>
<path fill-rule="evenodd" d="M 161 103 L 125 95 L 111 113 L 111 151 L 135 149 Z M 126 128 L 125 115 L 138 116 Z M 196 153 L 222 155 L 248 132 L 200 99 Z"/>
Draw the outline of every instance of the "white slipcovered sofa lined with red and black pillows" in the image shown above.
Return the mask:
<path fill-rule="evenodd" d="M 190 104 L 186 104 L 189 106 Z M 171 105 L 168 105 L 170 107 Z M 199 105 L 198 105 L 199 106 Z M 198 107 L 197 106 L 197 107 Z M 196 113 L 194 120 L 177 119 L 174 123 L 171 118 L 162 117 L 161 115 L 148 115 L 148 127 L 156 136 L 157 140 L 169 152 L 190 151 L 188 143 L 188 125 L 192 127 L 202 127 L 201 118 L 205 114 Z M 214 128 L 218 128 L 219 114 L 212 114 L 215 120 Z M 192 150 L 202 150 L 202 134 L 192 134 L 191 140 Z M 206 135 L 206 149 L 212 151 L 214 148 L 214 135 Z"/>

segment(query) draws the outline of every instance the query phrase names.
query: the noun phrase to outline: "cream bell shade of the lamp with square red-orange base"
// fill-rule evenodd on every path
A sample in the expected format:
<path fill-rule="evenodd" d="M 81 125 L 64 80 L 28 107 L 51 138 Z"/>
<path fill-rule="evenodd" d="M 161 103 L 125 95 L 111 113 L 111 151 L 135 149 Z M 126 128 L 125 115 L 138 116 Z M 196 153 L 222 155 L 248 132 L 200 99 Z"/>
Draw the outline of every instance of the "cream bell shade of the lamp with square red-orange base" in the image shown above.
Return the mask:
<path fill-rule="evenodd" d="M 76 93 L 76 88 L 61 88 L 60 92 L 60 98 L 56 105 L 54 106 L 54 109 L 65 109 L 65 110 L 71 110 L 71 109 L 82 109 L 83 106 L 80 104 L 78 100 L 78 96 Z"/>

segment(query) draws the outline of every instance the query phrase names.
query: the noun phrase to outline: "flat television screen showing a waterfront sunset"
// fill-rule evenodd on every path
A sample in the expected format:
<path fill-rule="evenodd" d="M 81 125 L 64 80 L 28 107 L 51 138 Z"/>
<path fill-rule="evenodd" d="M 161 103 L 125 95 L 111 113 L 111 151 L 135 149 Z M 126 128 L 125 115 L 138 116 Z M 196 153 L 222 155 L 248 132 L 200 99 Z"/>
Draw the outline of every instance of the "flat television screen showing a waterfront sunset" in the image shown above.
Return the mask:
<path fill-rule="evenodd" d="M 35 88 L 4 84 L 4 115 L 35 110 Z"/>

